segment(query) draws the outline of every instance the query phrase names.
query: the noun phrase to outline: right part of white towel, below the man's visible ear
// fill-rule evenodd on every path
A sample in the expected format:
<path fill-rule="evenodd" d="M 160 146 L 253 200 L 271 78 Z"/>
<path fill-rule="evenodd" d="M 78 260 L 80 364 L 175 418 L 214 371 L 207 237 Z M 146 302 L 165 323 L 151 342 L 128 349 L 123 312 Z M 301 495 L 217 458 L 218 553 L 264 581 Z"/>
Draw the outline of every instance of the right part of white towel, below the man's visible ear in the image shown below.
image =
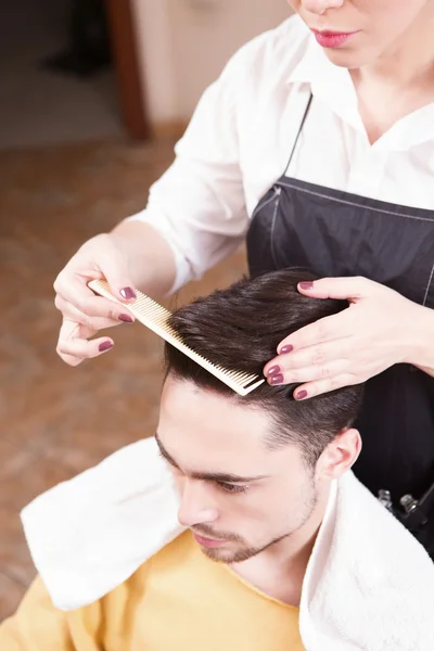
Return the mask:
<path fill-rule="evenodd" d="M 434 563 L 353 473 L 307 567 L 301 631 L 308 651 L 434 651 Z"/>

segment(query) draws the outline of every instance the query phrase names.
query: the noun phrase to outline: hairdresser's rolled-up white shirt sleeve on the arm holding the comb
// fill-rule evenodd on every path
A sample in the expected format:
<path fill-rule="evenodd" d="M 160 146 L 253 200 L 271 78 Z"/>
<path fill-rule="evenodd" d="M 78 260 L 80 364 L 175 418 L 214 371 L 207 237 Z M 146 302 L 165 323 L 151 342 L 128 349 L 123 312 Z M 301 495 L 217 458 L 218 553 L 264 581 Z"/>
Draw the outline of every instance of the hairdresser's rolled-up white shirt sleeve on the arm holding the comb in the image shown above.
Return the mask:
<path fill-rule="evenodd" d="M 174 164 L 151 188 L 146 209 L 130 218 L 152 225 L 170 245 L 177 266 L 173 291 L 235 251 L 247 230 L 237 124 L 244 51 L 205 91 Z"/>

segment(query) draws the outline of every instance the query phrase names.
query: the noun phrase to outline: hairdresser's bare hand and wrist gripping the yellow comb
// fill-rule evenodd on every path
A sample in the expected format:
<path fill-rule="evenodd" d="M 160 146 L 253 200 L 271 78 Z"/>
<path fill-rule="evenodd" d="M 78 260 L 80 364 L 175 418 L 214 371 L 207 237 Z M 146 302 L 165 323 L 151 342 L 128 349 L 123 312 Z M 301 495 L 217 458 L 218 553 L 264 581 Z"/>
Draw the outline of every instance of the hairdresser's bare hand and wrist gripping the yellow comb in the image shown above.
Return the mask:
<path fill-rule="evenodd" d="M 125 304 L 95 296 L 89 280 L 105 278 L 113 294 Z M 113 347 L 110 337 L 91 337 L 99 330 L 132 322 L 128 305 L 140 288 L 153 298 L 164 296 L 176 278 L 175 255 L 166 240 L 151 225 L 122 221 L 111 233 L 86 242 L 71 258 L 54 282 L 55 306 L 63 323 L 58 353 L 66 363 L 77 366 Z"/>

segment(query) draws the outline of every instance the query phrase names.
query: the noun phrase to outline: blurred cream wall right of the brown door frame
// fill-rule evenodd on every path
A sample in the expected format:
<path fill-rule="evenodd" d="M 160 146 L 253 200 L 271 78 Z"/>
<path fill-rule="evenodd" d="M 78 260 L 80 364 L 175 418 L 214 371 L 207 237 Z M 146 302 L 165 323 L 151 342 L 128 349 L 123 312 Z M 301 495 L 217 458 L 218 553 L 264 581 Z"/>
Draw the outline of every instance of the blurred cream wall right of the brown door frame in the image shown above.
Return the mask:
<path fill-rule="evenodd" d="M 285 0 L 133 0 L 154 123 L 188 120 L 203 90 L 244 42 L 290 14 Z"/>

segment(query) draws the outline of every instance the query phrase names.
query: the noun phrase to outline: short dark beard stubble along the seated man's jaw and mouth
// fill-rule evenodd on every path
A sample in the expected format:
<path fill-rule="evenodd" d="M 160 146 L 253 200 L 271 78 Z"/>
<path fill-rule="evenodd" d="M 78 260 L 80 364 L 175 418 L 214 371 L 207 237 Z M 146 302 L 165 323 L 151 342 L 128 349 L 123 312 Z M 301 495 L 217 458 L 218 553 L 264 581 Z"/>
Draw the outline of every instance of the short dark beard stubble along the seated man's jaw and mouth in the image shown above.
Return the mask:
<path fill-rule="evenodd" d="M 217 532 L 213 529 L 210 526 L 206 524 L 197 524 L 192 527 L 192 531 L 199 535 L 203 535 L 205 537 L 212 538 L 214 540 L 227 540 L 228 542 L 233 542 L 238 546 L 238 549 L 225 549 L 220 547 L 202 547 L 202 552 L 208 557 L 212 561 L 217 563 L 226 563 L 227 565 L 231 565 L 232 563 L 242 563 L 243 561 L 247 561 L 248 559 L 261 553 L 266 549 L 269 549 L 273 545 L 278 545 L 285 538 L 290 538 L 294 535 L 299 528 L 302 528 L 306 522 L 309 520 L 315 507 L 317 506 L 317 493 L 312 490 L 311 495 L 305 502 L 305 507 L 303 509 L 303 513 L 299 516 L 299 521 L 296 526 L 294 526 L 290 532 L 272 538 L 268 542 L 253 547 L 248 545 L 244 538 L 237 534 L 230 534 L 227 532 Z"/>

